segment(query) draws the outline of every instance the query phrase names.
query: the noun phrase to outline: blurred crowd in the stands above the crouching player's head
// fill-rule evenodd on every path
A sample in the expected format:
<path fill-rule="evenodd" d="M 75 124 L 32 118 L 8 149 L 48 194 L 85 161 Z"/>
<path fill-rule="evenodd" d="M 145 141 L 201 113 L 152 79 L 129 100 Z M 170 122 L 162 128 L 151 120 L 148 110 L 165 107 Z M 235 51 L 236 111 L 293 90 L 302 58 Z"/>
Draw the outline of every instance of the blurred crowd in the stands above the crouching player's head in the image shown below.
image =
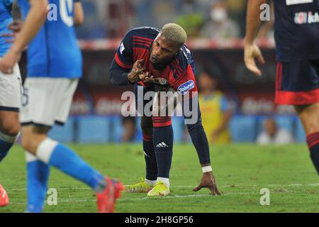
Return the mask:
<path fill-rule="evenodd" d="M 79 38 L 117 38 L 129 28 L 178 23 L 189 38 L 242 38 L 247 0 L 82 0 L 86 23 Z M 265 25 L 261 35 L 272 29 Z"/>

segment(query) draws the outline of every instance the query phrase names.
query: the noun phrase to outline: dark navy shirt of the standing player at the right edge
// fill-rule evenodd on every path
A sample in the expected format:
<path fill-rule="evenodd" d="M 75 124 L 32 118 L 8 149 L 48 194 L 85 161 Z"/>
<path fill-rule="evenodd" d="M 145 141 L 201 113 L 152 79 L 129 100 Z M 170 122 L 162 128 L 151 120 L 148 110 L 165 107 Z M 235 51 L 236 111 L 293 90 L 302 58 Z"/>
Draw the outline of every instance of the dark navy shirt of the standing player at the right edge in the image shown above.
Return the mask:
<path fill-rule="evenodd" d="M 275 0 L 279 62 L 319 59 L 319 0 Z"/>

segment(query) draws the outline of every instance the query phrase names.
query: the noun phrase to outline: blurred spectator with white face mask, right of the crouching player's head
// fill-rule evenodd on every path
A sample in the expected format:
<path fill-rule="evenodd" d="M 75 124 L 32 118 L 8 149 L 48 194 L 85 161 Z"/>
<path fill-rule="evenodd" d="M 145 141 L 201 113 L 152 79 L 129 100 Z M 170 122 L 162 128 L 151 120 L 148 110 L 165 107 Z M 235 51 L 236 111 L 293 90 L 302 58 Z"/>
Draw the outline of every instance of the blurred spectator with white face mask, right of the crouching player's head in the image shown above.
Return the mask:
<path fill-rule="evenodd" d="M 239 26 L 228 16 L 227 5 L 218 1 L 211 5 L 211 18 L 201 28 L 201 36 L 211 39 L 238 38 Z"/>

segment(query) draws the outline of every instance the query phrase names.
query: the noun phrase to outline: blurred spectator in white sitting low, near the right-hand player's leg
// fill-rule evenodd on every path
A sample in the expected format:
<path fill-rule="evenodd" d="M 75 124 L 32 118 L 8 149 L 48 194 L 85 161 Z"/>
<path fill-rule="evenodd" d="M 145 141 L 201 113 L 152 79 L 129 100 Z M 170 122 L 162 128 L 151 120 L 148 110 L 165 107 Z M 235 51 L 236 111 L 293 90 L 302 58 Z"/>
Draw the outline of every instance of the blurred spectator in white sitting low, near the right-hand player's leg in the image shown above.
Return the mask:
<path fill-rule="evenodd" d="M 286 144 L 293 143 L 293 136 L 289 131 L 278 128 L 276 121 L 268 118 L 264 121 L 264 131 L 257 137 L 257 143 L 266 144 Z"/>

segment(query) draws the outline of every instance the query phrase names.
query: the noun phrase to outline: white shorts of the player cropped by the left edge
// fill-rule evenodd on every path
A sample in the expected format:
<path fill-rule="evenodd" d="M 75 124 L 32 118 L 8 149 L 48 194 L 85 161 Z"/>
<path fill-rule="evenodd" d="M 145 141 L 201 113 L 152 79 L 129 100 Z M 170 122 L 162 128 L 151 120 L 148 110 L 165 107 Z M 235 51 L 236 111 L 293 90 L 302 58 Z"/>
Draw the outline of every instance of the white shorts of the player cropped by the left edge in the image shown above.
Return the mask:
<path fill-rule="evenodd" d="M 21 74 L 16 64 L 11 74 L 0 72 L 0 111 L 16 111 L 21 108 L 23 94 Z"/>

